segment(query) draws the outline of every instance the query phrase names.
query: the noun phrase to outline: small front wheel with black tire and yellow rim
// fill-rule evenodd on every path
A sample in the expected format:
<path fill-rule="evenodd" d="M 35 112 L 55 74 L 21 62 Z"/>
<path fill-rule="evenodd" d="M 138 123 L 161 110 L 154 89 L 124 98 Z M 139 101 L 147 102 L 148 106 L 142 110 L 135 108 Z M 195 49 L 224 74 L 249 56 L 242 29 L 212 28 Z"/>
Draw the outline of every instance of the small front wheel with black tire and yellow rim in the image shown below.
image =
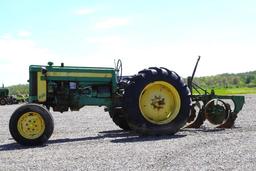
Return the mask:
<path fill-rule="evenodd" d="M 9 121 L 9 130 L 21 145 L 42 145 L 53 133 L 52 115 L 38 104 L 25 104 L 16 109 Z"/>

